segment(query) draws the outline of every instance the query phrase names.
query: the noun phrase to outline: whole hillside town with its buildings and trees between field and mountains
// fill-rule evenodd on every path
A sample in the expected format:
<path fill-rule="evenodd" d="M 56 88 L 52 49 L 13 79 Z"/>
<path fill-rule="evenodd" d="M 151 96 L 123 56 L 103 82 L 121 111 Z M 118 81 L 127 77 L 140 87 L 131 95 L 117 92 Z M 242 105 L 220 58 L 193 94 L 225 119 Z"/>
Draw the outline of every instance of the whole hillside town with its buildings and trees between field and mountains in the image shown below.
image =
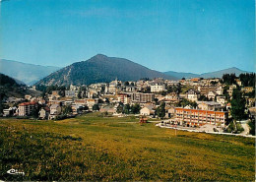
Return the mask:
<path fill-rule="evenodd" d="M 245 99 L 247 122 L 255 119 L 256 111 L 254 88 L 244 87 L 239 79 L 231 85 L 224 83 L 224 79 L 170 81 L 159 78 L 137 82 L 116 79 L 89 86 L 44 87 L 44 90 L 33 86 L 29 89 L 42 91 L 42 95 L 4 99 L 9 108 L 3 110 L 2 117 L 60 120 L 88 112 L 117 117 L 133 114 L 140 116 L 141 122 L 159 118 L 160 126 L 203 128 L 210 125 L 213 132 L 249 134 L 248 126 L 232 122 L 233 91 L 239 89 Z M 229 126 L 233 124 L 235 126 Z"/>

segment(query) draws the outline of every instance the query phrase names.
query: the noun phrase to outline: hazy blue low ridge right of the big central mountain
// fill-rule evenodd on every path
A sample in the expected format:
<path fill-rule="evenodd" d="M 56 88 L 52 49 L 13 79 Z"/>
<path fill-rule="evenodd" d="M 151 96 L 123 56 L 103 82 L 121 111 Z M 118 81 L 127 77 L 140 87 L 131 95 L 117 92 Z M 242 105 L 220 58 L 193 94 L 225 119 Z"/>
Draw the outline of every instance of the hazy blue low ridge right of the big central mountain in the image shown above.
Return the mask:
<path fill-rule="evenodd" d="M 222 78 L 224 74 L 235 74 L 236 76 L 239 76 L 242 73 L 249 73 L 247 71 L 242 71 L 238 68 L 232 67 L 232 68 L 227 68 L 224 70 L 216 71 L 216 72 L 209 72 L 209 73 L 204 73 L 204 74 L 193 74 L 193 73 L 183 73 L 183 72 L 173 72 L 173 71 L 168 71 L 168 72 L 163 72 L 166 75 L 176 77 L 178 79 L 189 79 L 189 78 L 204 78 L 204 79 L 209 79 L 209 78 Z"/>

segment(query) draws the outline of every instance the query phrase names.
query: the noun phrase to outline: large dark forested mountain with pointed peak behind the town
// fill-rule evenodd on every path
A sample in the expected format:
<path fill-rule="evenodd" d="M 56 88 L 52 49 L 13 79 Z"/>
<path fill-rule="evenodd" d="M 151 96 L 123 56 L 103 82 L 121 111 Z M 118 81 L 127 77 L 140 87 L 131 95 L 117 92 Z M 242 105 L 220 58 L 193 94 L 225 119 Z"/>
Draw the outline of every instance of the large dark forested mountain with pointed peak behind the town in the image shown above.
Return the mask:
<path fill-rule="evenodd" d="M 137 81 L 142 78 L 177 78 L 151 70 L 130 60 L 97 54 L 87 61 L 76 62 L 42 79 L 36 85 L 90 85 L 94 83 Z"/>

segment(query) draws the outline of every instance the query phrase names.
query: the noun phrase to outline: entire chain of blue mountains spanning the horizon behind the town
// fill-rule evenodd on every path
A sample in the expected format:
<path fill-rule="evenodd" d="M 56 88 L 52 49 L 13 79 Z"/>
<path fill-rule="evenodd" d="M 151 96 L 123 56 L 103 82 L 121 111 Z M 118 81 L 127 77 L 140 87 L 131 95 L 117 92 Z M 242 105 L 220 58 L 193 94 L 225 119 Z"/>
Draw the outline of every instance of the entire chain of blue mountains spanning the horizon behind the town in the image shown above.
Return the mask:
<path fill-rule="evenodd" d="M 228 68 L 204 74 L 182 72 L 158 72 L 130 60 L 107 57 L 97 54 L 87 61 L 76 62 L 65 68 L 39 66 L 17 61 L 0 59 L 0 73 L 10 76 L 18 84 L 34 85 L 90 85 L 100 82 L 137 81 L 142 78 L 163 78 L 178 80 L 182 78 L 222 78 L 224 74 L 248 73 L 238 68 Z"/>

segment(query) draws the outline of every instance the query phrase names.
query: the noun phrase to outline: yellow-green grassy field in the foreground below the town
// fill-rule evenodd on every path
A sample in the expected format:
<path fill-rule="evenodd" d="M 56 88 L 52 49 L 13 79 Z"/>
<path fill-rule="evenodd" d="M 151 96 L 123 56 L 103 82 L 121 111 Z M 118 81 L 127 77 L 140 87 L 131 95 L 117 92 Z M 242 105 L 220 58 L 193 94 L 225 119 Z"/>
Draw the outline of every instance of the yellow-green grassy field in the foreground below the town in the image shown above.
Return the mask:
<path fill-rule="evenodd" d="M 14 168 L 25 176 L 10 175 Z M 254 139 L 134 118 L 0 119 L 0 180 L 254 181 Z"/>

